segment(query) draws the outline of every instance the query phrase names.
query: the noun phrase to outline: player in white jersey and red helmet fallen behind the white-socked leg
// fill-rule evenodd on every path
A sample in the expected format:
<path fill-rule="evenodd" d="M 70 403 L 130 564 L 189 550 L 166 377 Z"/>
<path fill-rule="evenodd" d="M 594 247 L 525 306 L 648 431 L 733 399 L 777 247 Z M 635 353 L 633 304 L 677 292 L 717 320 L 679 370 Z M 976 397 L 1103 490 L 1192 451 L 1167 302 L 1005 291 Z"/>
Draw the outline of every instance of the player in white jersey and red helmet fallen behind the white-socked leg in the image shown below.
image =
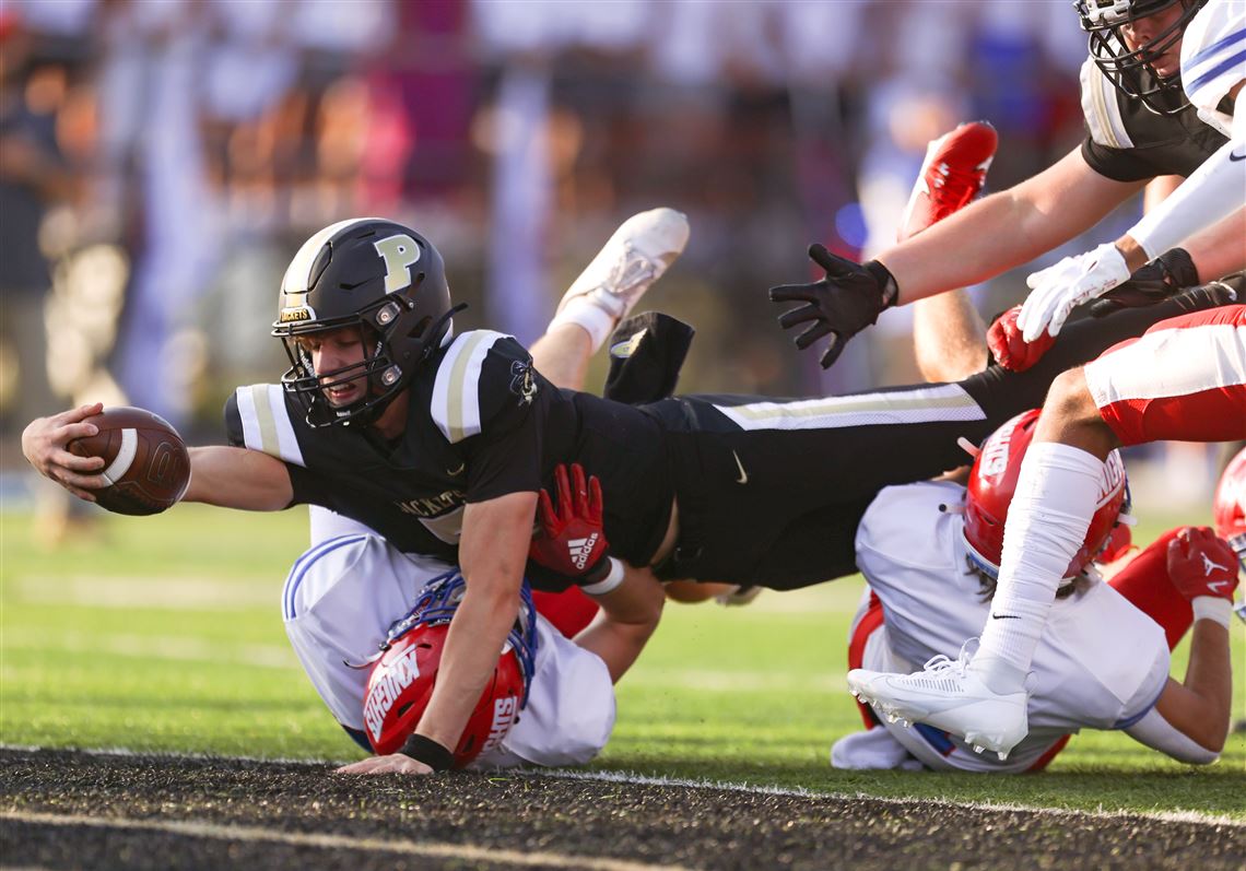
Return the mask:
<path fill-rule="evenodd" d="M 936 679 L 956 668 L 964 637 L 991 609 L 1003 525 L 1037 417 L 1027 412 L 983 444 L 967 488 L 949 481 L 888 487 L 870 506 L 857 532 L 857 564 L 870 586 L 852 626 L 850 668 L 903 672 L 926 662 Z M 1169 677 L 1169 652 L 1192 617 L 1204 614 L 1202 598 L 1232 599 L 1237 558 L 1210 530 L 1185 528 L 1101 582 L 1090 561 L 1114 558 L 1103 553 L 1109 545 L 1123 550 L 1114 533 L 1128 530 L 1115 526 L 1128 510 L 1125 493 L 1124 467 L 1113 452 L 1094 518 L 1034 652 L 1029 734 L 1007 761 L 971 753 L 959 736 L 928 724 L 910 729 L 861 705 L 868 731 L 836 741 L 831 764 L 1034 771 L 1080 729 L 1121 729 L 1180 761 L 1214 761 L 1232 699 L 1229 633 L 1206 617 L 1194 623 L 1184 683 Z"/>

